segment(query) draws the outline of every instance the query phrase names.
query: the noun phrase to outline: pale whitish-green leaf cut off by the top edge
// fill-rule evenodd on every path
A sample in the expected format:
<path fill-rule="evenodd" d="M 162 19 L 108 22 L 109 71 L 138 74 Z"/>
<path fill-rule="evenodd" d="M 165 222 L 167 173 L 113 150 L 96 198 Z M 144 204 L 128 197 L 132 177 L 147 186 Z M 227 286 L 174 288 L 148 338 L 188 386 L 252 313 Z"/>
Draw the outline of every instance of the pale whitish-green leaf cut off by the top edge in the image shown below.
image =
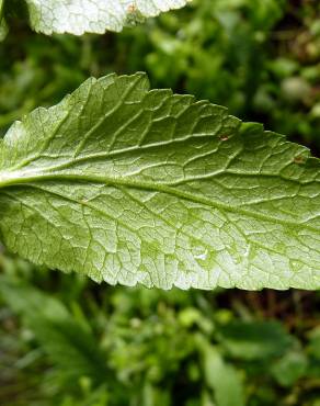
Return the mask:
<path fill-rule="evenodd" d="M 160 12 L 179 9 L 190 0 L 25 0 L 31 25 L 45 34 L 103 34 L 122 31 Z"/>

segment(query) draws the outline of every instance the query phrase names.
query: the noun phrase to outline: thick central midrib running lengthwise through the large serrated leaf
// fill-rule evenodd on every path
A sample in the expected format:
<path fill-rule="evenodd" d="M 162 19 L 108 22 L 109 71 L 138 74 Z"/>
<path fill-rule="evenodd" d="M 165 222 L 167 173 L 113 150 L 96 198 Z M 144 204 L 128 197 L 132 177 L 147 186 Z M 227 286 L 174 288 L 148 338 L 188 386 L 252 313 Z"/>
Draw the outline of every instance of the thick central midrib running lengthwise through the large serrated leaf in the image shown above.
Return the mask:
<path fill-rule="evenodd" d="M 13 172 L 14 173 L 14 172 Z M 240 174 L 240 173 L 239 173 Z M 241 176 L 241 174 L 240 174 Z M 284 218 L 278 218 L 276 216 L 271 216 L 258 212 L 252 212 L 250 210 L 239 207 L 239 206 L 232 206 L 228 203 L 222 203 L 220 201 L 216 201 L 213 199 L 203 198 L 198 194 L 192 194 L 186 191 L 183 191 L 181 189 L 174 188 L 172 185 L 165 185 L 158 182 L 146 182 L 146 181 L 136 181 L 133 178 L 112 178 L 112 177 L 105 177 L 105 176 L 87 176 L 87 174 L 77 174 L 77 173 L 47 173 L 47 172 L 34 172 L 33 176 L 23 176 L 23 177 L 9 177 L 7 180 L 2 179 L 0 180 L 0 193 L 1 189 L 3 188 L 12 188 L 18 185 L 23 185 L 27 183 L 38 183 L 38 182 L 46 182 L 46 181 L 73 181 L 76 183 L 103 183 L 105 185 L 113 185 L 115 188 L 117 187 L 127 187 L 130 189 L 136 190 L 145 190 L 150 192 L 158 192 L 158 193 L 165 193 L 169 195 L 173 195 L 175 198 L 186 200 L 196 204 L 203 204 L 213 208 L 217 208 L 220 211 L 226 211 L 229 213 L 236 213 L 241 214 L 248 217 L 252 217 L 259 221 L 265 221 L 268 223 L 276 223 L 282 224 L 283 226 L 289 227 L 289 228 L 306 228 L 308 230 L 311 230 L 313 233 L 319 233 L 319 228 L 313 227 L 309 224 L 297 222 L 297 221 L 289 221 Z"/>

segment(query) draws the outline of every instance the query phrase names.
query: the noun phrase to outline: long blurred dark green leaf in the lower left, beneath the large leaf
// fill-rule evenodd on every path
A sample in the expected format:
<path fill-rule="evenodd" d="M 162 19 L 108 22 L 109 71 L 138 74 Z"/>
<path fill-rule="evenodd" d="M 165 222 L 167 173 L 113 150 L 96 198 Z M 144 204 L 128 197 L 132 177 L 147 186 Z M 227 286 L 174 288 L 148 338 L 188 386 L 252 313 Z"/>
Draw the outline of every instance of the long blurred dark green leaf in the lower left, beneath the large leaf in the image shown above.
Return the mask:
<path fill-rule="evenodd" d="M 20 314 L 59 369 L 59 379 L 77 384 L 81 376 L 103 383 L 110 376 L 106 357 L 96 340 L 62 302 L 14 278 L 0 277 L 0 294 Z M 107 375 L 106 375 L 107 374 Z"/>

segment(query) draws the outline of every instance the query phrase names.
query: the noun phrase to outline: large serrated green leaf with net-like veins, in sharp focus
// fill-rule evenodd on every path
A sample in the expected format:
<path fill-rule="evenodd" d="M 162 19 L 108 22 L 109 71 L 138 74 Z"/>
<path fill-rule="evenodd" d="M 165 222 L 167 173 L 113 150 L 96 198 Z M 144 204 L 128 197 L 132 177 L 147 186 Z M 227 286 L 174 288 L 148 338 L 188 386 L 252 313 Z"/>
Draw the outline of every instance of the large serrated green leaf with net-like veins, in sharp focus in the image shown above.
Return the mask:
<path fill-rule="evenodd" d="M 145 75 L 89 79 L 0 145 L 13 252 L 95 281 L 320 287 L 320 165 Z"/>

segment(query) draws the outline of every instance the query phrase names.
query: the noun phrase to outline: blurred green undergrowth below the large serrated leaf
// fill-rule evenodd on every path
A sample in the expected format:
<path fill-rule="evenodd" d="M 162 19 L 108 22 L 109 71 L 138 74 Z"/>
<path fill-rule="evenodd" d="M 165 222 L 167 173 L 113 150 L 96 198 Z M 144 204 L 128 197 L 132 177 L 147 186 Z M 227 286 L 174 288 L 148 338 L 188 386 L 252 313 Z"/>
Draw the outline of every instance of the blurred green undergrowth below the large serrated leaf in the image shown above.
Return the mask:
<path fill-rule="evenodd" d="M 1 405 L 317 405 L 319 327 L 293 335 L 224 291 L 95 289 L 1 266 Z"/>

